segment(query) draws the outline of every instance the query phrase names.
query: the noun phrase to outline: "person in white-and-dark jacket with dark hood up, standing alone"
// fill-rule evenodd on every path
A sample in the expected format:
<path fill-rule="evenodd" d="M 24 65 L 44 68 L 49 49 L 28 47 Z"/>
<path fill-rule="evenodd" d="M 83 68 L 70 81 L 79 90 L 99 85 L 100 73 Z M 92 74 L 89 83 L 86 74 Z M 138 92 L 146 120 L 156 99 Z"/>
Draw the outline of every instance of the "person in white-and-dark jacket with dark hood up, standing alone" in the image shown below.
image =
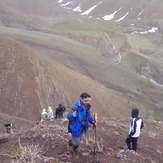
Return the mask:
<path fill-rule="evenodd" d="M 144 127 L 144 123 L 141 117 L 138 116 L 139 109 L 132 109 L 132 120 L 129 127 L 129 135 L 126 138 L 126 145 L 128 150 L 137 151 L 137 141 L 140 136 L 140 129 Z"/>

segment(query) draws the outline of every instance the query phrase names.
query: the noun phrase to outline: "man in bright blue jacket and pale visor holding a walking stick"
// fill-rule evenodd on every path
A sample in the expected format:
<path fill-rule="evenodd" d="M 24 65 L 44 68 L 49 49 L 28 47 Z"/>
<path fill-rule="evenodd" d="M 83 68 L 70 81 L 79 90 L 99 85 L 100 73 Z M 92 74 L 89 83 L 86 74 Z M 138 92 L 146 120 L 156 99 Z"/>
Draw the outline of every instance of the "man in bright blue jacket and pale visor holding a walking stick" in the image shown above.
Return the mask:
<path fill-rule="evenodd" d="M 67 115 L 69 120 L 68 131 L 72 135 L 69 141 L 70 151 L 78 152 L 82 135 L 88 132 L 88 122 L 96 125 L 95 120 L 91 117 L 91 105 L 89 104 L 91 98 L 88 93 L 82 93 L 80 99 L 77 100 Z"/>

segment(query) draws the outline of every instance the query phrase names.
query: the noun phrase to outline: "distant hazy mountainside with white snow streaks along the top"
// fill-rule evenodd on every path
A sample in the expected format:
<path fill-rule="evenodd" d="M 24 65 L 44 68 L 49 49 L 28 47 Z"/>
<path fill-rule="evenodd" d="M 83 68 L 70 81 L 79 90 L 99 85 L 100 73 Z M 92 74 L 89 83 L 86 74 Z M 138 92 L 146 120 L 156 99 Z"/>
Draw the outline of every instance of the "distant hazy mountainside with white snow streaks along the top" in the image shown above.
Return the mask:
<path fill-rule="evenodd" d="M 53 16 L 64 19 L 82 15 L 93 19 L 105 19 L 118 21 L 125 25 L 157 26 L 163 31 L 162 0 L 2 0 L 20 12 L 35 16 Z M 38 7 L 39 6 L 39 7 Z M 86 12 L 87 11 L 87 12 Z M 40 17 L 41 18 L 41 17 Z"/>

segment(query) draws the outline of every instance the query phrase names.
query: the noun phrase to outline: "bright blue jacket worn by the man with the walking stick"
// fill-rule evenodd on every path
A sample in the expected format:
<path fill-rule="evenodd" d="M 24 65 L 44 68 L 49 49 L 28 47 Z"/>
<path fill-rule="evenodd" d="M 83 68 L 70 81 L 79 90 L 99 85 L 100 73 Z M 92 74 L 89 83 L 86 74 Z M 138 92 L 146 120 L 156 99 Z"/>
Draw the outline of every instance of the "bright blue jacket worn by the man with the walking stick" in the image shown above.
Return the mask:
<path fill-rule="evenodd" d="M 85 133 L 88 132 L 88 122 L 91 123 L 92 121 L 94 121 L 94 119 L 91 117 L 90 109 L 82 106 L 80 100 L 76 101 L 67 115 L 67 118 L 71 121 L 69 128 L 71 130 L 72 136 L 74 137 L 80 137 L 81 135 L 81 128 L 82 128 L 81 120 L 82 120 L 83 109 L 86 109 L 86 126 L 84 130 Z M 74 111 L 77 112 L 76 117 L 72 116 Z"/>

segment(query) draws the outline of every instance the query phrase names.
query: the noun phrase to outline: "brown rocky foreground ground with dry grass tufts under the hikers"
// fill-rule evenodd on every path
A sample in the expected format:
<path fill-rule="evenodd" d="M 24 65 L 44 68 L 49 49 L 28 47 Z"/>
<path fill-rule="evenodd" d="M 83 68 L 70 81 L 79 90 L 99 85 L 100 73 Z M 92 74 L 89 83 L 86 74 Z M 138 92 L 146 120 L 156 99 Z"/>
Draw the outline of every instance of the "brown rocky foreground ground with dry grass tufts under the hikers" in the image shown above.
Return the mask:
<path fill-rule="evenodd" d="M 83 137 L 80 153 L 68 150 L 67 120 L 44 121 L 12 134 L 1 132 L 0 158 L 8 162 L 58 162 L 58 163 L 160 163 L 163 161 L 162 123 L 145 120 L 145 127 L 138 141 L 138 151 L 127 151 L 125 138 L 129 119 L 99 117 L 97 145 L 93 143 L 94 130 Z M 153 150 L 155 149 L 155 150 Z"/>

